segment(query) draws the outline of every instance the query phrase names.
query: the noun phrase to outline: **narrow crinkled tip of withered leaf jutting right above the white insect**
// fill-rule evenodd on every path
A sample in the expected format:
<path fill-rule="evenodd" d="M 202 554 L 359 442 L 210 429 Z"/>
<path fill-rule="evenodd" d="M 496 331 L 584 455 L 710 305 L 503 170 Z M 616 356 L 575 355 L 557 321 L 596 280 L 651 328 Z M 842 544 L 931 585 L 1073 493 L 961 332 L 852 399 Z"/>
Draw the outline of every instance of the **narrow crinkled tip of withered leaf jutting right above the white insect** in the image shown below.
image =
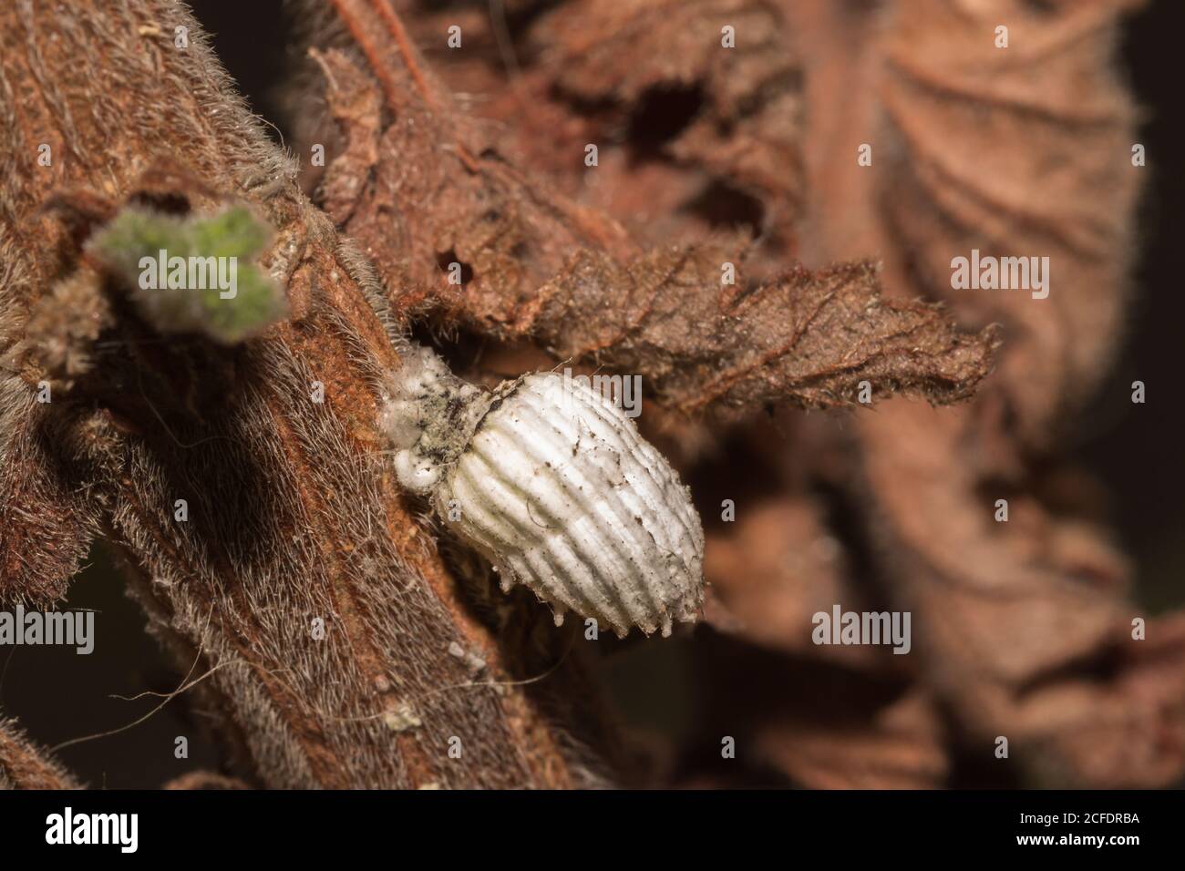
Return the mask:
<path fill-rule="evenodd" d="M 685 412 L 853 404 L 878 392 L 963 399 L 987 372 L 993 331 L 967 337 L 941 310 L 879 297 L 877 270 L 795 269 L 758 288 L 711 290 L 706 251 L 655 251 L 621 268 L 577 255 L 513 325 L 553 337 L 562 357 L 642 372 L 660 402 Z M 608 305 L 597 320 L 579 313 Z M 562 340 L 562 341 L 561 341 Z"/>

